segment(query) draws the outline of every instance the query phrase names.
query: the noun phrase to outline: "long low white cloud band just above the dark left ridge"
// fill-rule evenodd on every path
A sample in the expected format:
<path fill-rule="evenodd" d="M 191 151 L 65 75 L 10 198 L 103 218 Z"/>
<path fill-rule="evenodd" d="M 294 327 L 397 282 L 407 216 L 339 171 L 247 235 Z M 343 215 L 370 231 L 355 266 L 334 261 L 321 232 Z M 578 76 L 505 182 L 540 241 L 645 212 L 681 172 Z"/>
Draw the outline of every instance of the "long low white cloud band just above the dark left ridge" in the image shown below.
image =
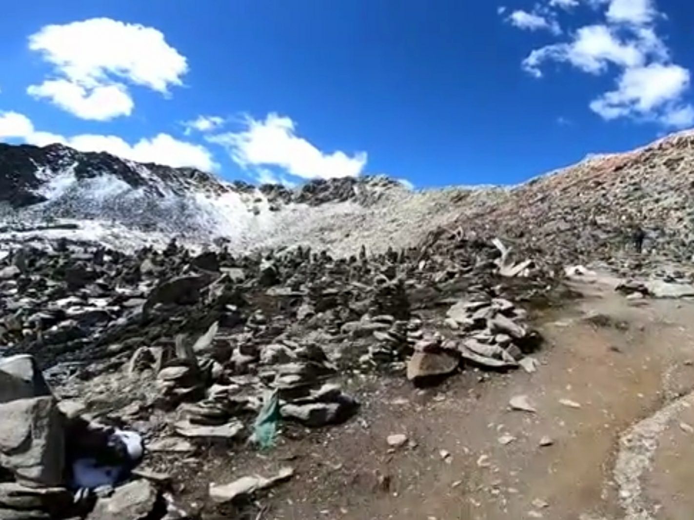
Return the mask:
<path fill-rule="evenodd" d="M 208 149 L 201 145 L 180 141 L 167 133 L 160 133 L 150 139 L 142 138 L 134 145 L 130 145 L 118 136 L 85 133 L 64 137 L 55 133 L 37 131 L 28 117 L 17 112 L 0 113 L 0 139 L 3 138 L 19 139 L 37 146 L 61 143 L 82 152 L 108 152 L 141 163 L 158 163 L 174 167 L 189 166 L 208 172 L 218 168 Z"/>

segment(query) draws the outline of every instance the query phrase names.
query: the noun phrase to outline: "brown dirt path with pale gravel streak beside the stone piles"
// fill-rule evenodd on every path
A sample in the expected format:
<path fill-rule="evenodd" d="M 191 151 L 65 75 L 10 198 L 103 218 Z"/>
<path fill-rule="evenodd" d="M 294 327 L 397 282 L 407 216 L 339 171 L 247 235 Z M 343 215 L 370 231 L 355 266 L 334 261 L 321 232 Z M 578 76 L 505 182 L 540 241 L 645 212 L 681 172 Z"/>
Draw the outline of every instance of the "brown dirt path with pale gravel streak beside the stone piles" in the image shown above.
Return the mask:
<path fill-rule="evenodd" d="M 260 517 L 691 519 L 694 303 L 577 289 L 583 300 L 539 325 L 536 373 L 467 371 L 425 391 L 353 382 L 357 419 L 244 461 L 298 472 Z M 510 411 L 518 394 L 537 412 Z M 409 445 L 389 450 L 393 433 Z"/>

